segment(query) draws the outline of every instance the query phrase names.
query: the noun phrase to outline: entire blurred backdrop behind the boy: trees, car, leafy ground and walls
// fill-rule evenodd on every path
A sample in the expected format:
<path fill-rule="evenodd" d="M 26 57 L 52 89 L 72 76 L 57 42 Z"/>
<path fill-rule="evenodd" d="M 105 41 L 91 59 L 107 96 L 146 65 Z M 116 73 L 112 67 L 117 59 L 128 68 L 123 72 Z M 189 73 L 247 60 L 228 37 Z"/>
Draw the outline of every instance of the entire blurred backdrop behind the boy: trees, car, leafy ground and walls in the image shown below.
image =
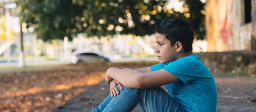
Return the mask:
<path fill-rule="evenodd" d="M 153 27 L 163 19 L 191 24 L 193 52 L 213 76 L 255 77 L 255 7 L 255 0 L 0 0 L 0 110 L 52 111 L 109 67 L 159 63 Z"/>

